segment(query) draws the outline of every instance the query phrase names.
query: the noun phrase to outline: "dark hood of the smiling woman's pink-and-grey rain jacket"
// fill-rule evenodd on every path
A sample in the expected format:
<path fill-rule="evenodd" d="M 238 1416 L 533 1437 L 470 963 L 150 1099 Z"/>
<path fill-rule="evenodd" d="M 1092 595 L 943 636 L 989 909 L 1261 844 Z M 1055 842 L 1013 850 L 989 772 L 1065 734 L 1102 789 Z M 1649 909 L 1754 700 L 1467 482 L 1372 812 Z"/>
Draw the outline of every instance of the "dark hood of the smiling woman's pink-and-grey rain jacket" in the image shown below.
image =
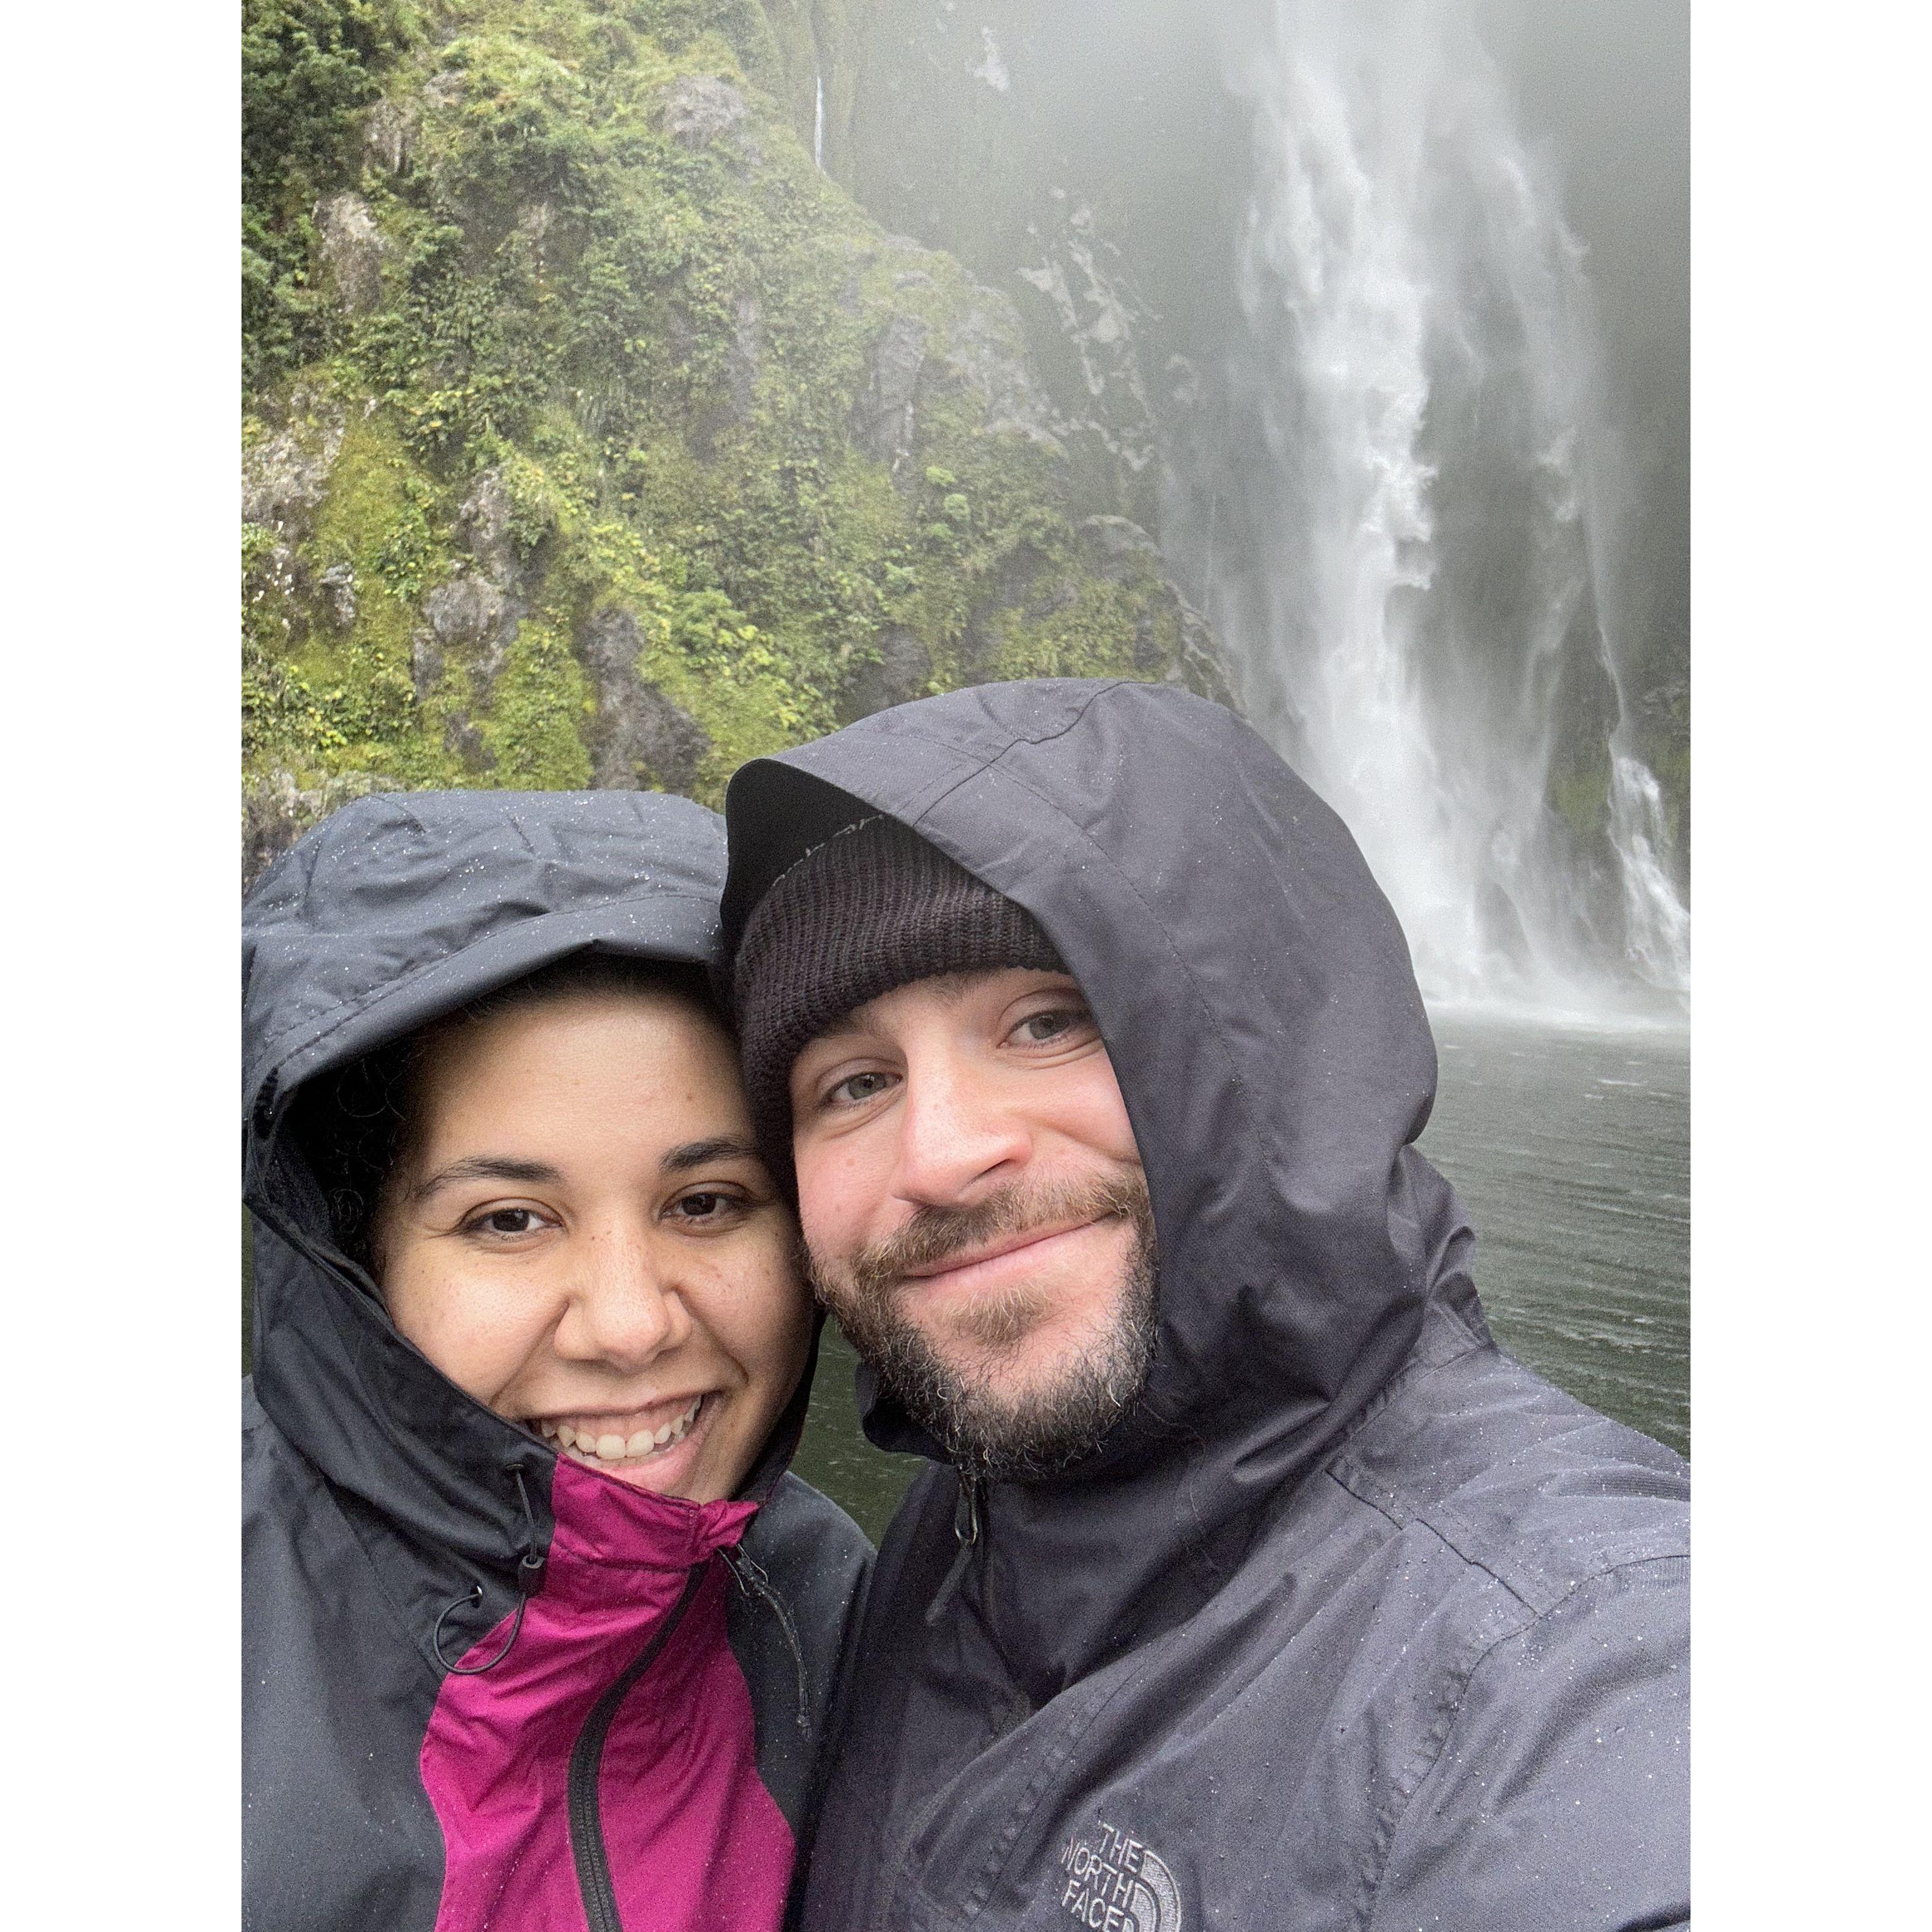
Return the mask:
<path fill-rule="evenodd" d="M 547 1548 L 556 1453 L 396 1333 L 367 1273 L 334 1242 L 323 1192 L 286 1132 L 290 1101 L 319 1074 L 572 952 L 707 966 L 723 866 L 717 813 L 688 798 L 371 796 L 284 854 L 243 906 L 255 1393 L 346 1507 L 365 1505 L 365 1532 L 412 1549 L 415 1561 L 394 1575 L 412 1578 L 398 1588 L 413 1596 L 417 1631 L 458 1586 L 483 1590 L 448 1633 L 456 1650 L 502 1615 L 518 1563 Z M 804 1401 L 802 1387 L 753 1493 L 782 1470 Z"/>

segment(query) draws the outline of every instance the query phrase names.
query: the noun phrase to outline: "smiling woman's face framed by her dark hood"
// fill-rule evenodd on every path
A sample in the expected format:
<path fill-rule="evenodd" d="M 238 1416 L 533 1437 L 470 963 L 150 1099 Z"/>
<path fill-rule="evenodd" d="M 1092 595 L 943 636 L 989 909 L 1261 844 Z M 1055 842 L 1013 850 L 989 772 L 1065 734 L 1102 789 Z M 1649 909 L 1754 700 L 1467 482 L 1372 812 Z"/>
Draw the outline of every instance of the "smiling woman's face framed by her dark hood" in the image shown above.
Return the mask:
<path fill-rule="evenodd" d="M 670 993 L 570 993 L 429 1049 L 373 1248 L 390 1318 L 450 1381 L 705 1503 L 804 1370 L 792 1242 L 723 1028 Z"/>

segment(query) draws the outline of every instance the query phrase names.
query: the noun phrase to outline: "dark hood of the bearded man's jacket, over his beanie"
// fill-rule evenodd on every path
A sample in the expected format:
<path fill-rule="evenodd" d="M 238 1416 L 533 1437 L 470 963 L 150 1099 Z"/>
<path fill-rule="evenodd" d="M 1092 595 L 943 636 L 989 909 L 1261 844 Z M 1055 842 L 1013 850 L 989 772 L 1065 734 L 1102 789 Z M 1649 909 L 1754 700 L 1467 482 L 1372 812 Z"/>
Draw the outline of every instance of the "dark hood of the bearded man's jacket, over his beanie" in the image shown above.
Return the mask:
<path fill-rule="evenodd" d="M 1213 1588 L 1252 1509 L 1403 1364 L 1432 1296 L 1480 1325 L 1463 1209 L 1412 1148 L 1434 1039 L 1347 827 L 1240 719 L 1177 688 L 980 686 L 744 767 L 726 954 L 854 802 L 1045 927 L 1148 1175 L 1146 1393 L 1094 1459 L 991 1497 L 980 1594 L 1051 1692 Z M 869 1376 L 860 1401 L 873 1441 L 937 1453 Z"/>

